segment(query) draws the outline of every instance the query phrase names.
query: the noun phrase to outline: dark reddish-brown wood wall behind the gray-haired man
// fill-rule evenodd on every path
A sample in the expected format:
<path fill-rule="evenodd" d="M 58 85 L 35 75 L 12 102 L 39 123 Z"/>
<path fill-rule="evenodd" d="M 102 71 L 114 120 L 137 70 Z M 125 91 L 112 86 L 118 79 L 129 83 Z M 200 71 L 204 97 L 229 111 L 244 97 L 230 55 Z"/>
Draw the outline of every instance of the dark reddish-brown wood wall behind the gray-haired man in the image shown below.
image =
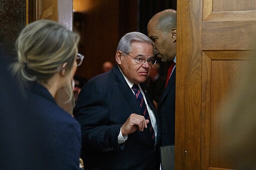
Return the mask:
<path fill-rule="evenodd" d="M 104 61 L 115 63 L 115 50 L 120 37 L 136 31 L 137 0 L 91 0 L 94 5 L 74 13 L 74 29 L 81 35 L 79 53 L 84 55 L 76 75 L 90 79 L 102 73 Z"/>

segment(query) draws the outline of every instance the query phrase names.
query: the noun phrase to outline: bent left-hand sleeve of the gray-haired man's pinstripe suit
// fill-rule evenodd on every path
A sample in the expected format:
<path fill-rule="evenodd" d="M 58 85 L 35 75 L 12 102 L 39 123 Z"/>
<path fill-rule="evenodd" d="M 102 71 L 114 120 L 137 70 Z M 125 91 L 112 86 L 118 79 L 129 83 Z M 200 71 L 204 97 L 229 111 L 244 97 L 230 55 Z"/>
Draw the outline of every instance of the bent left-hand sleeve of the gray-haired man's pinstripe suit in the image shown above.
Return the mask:
<path fill-rule="evenodd" d="M 121 125 L 109 122 L 108 98 L 111 92 L 105 84 L 89 81 L 80 91 L 74 117 L 81 125 L 82 146 L 86 152 L 119 151 L 117 136 Z"/>

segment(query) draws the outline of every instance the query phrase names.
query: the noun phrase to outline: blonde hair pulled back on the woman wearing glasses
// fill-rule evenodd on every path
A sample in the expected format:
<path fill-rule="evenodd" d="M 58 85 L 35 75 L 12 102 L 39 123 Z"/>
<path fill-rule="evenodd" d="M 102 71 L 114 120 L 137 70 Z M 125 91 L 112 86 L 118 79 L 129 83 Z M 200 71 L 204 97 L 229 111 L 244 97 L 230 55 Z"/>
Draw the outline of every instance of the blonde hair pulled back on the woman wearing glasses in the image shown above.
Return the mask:
<path fill-rule="evenodd" d="M 51 20 L 37 20 L 28 24 L 16 40 L 18 59 L 12 73 L 21 87 L 28 88 L 32 82 L 47 84 L 63 63 L 68 74 L 77 54 L 80 37 L 61 24 Z M 68 93 L 72 94 L 71 82 Z"/>

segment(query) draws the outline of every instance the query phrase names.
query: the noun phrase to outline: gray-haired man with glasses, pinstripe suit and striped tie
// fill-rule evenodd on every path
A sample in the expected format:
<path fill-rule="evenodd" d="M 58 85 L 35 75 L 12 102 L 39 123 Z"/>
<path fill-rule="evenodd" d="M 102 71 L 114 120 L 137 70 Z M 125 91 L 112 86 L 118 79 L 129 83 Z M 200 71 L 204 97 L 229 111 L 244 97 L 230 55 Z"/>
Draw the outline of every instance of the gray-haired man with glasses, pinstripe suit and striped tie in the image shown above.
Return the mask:
<path fill-rule="evenodd" d="M 81 89 L 73 114 L 81 125 L 85 169 L 159 170 L 158 118 L 143 83 L 153 57 L 146 35 L 127 33 L 116 49 L 117 65 Z"/>

